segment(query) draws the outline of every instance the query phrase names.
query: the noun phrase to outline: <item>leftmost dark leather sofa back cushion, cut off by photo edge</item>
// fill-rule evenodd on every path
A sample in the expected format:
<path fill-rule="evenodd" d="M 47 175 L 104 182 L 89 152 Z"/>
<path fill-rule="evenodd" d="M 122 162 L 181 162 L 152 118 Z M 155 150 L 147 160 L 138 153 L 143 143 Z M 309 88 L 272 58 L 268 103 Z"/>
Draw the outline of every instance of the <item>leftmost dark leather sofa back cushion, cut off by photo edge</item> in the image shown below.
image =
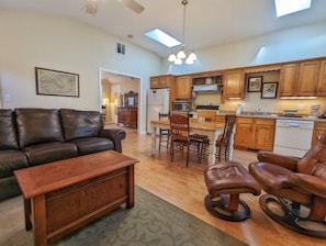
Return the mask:
<path fill-rule="evenodd" d="M 18 149 L 15 121 L 12 110 L 0 109 L 0 150 Z"/>

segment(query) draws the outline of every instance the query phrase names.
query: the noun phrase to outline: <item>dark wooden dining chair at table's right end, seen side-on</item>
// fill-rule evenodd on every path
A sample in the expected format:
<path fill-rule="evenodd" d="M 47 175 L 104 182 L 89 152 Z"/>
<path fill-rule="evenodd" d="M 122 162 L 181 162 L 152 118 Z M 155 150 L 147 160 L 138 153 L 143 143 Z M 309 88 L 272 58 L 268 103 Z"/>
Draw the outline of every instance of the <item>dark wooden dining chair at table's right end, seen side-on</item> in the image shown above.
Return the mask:
<path fill-rule="evenodd" d="M 227 160 L 228 150 L 229 150 L 229 141 L 233 133 L 235 121 L 236 121 L 235 114 L 225 115 L 224 133 L 216 141 L 215 158 L 218 160 L 218 163 L 221 163 L 222 155 L 224 155 L 225 160 Z"/>

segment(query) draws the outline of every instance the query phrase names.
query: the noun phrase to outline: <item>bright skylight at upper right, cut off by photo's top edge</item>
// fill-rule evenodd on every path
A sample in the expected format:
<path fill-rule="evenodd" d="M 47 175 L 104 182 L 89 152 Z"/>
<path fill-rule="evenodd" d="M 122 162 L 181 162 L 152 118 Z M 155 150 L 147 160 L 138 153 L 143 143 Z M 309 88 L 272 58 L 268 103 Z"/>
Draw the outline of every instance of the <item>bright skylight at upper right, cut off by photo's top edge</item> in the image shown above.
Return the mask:
<path fill-rule="evenodd" d="M 277 15 L 282 16 L 311 8 L 312 0 L 274 0 Z"/>

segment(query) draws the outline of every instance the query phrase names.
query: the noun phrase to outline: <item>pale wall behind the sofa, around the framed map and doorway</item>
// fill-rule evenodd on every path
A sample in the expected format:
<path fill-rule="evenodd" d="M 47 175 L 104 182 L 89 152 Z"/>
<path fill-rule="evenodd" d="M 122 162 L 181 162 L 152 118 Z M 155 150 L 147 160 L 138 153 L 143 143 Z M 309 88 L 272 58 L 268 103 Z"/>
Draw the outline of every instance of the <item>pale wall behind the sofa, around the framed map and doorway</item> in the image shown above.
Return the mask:
<path fill-rule="evenodd" d="M 100 110 L 99 68 L 138 76 L 144 91 L 149 77 L 160 74 L 161 62 L 154 53 L 71 19 L 0 9 L 0 33 L 2 108 Z M 126 44 L 126 56 L 115 53 L 117 42 Z M 80 97 L 37 96 L 35 67 L 79 74 Z M 145 109 L 146 100 L 142 103 Z M 140 122 L 146 132 L 145 113 Z"/>

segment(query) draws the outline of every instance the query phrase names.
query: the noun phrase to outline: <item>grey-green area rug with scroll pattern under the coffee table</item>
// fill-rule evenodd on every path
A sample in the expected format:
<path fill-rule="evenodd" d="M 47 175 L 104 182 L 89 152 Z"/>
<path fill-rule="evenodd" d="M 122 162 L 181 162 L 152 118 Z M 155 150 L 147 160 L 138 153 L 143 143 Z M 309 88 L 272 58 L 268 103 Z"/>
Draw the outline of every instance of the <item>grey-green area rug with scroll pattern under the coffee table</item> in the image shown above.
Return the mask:
<path fill-rule="evenodd" d="M 33 233 L 21 228 L 1 245 L 32 246 Z M 133 209 L 115 210 L 53 245 L 238 246 L 245 244 L 136 187 Z"/>

